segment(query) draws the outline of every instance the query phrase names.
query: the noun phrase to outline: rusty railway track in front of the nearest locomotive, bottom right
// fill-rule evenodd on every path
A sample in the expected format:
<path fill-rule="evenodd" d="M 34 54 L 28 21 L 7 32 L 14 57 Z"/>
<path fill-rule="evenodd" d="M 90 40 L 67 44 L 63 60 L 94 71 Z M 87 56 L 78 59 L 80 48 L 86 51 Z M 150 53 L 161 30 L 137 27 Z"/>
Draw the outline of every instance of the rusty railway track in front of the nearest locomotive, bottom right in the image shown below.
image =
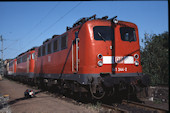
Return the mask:
<path fill-rule="evenodd" d="M 121 104 L 113 106 L 102 104 L 103 108 L 108 109 L 109 113 L 168 113 L 168 110 L 148 106 L 143 103 L 123 100 Z"/>

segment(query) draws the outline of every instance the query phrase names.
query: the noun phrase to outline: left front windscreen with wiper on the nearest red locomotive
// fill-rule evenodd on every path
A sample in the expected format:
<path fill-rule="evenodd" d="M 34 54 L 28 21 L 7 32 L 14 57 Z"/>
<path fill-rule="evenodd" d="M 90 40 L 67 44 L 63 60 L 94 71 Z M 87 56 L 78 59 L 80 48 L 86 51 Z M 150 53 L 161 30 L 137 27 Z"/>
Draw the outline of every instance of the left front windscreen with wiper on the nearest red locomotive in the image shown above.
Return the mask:
<path fill-rule="evenodd" d="M 110 26 L 95 26 L 93 28 L 95 40 L 113 40 L 114 32 Z"/>

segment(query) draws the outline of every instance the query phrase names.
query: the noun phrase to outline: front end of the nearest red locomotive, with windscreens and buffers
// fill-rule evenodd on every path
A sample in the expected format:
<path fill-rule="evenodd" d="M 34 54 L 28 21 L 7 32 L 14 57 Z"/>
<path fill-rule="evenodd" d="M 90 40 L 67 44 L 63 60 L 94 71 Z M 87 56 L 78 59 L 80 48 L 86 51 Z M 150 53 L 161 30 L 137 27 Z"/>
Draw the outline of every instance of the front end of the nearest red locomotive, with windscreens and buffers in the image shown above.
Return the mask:
<path fill-rule="evenodd" d="M 109 90 L 113 93 L 115 87 L 120 90 L 130 86 L 134 92 L 144 83 L 135 24 L 114 19 L 91 20 L 83 25 L 78 37 L 79 73 L 86 74 L 93 97 L 103 98 L 107 88 L 113 89 Z"/>

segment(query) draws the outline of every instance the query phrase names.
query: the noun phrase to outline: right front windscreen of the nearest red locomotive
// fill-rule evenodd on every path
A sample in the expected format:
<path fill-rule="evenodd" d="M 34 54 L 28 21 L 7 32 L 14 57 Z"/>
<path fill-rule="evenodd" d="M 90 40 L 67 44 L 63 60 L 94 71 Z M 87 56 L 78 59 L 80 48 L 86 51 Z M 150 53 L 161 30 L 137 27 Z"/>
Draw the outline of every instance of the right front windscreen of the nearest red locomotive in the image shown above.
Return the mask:
<path fill-rule="evenodd" d="M 134 28 L 121 27 L 120 28 L 121 39 L 123 41 L 136 41 L 136 33 Z"/>

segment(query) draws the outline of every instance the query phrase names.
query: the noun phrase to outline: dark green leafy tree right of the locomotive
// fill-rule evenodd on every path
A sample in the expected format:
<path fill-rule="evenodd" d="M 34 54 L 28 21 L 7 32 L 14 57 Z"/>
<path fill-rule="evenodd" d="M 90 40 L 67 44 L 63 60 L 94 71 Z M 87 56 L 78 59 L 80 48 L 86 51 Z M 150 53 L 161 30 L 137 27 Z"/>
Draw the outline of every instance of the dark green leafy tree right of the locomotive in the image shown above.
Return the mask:
<path fill-rule="evenodd" d="M 169 81 L 169 32 L 162 34 L 145 33 L 144 47 L 141 47 L 143 73 L 151 78 L 151 85 L 168 84 Z"/>

